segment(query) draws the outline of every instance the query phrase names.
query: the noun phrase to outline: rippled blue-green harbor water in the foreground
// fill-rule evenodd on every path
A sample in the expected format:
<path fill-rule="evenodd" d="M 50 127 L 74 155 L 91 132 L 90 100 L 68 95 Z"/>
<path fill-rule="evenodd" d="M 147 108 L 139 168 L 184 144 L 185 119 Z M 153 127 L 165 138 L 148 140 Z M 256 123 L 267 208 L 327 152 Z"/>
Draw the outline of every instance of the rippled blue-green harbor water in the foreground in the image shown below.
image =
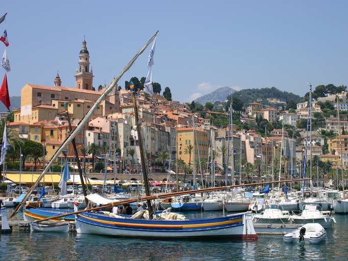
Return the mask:
<path fill-rule="evenodd" d="M 184 214 L 190 218 L 222 215 Z M 285 243 L 280 235 L 259 236 L 257 241 L 149 240 L 16 230 L 0 235 L 0 260 L 347 260 L 348 216 L 335 215 L 335 219 L 327 239 L 317 245 Z"/>

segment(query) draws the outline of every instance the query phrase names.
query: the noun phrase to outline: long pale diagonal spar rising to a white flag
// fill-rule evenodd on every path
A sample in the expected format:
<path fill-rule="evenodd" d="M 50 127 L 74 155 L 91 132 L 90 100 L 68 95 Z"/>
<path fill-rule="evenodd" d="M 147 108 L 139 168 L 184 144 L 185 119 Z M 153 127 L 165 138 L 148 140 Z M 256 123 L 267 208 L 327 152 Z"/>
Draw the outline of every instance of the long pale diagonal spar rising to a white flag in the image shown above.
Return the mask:
<path fill-rule="evenodd" d="M 79 124 L 76 126 L 76 128 L 74 128 L 74 130 L 72 131 L 72 133 L 70 133 L 70 136 L 67 137 L 65 139 L 65 141 L 63 142 L 63 144 L 58 148 L 58 150 L 56 151 L 56 153 L 53 154 L 52 158 L 48 161 L 46 167 L 44 168 L 44 170 L 42 171 L 42 173 L 40 174 L 40 176 L 38 177 L 38 179 L 35 181 L 35 184 L 29 189 L 29 191 L 27 192 L 27 195 L 23 197 L 22 201 L 19 202 L 19 204 L 17 205 L 17 207 L 15 208 L 15 210 L 12 212 L 11 217 L 13 217 L 22 207 L 22 203 L 26 202 L 29 195 L 32 194 L 32 192 L 34 191 L 34 189 L 38 186 L 39 182 L 41 181 L 41 179 L 43 178 L 43 176 L 46 174 L 46 172 L 49 170 L 49 168 L 51 168 L 52 164 L 54 164 L 58 158 L 58 156 L 63 152 L 64 148 L 66 146 L 68 146 L 68 144 L 72 141 L 73 138 L 75 138 L 81 131 L 82 128 L 86 125 L 87 121 L 89 120 L 89 118 L 94 114 L 95 110 L 97 109 L 97 107 L 102 103 L 102 101 L 105 100 L 105 98 L 107 97 L 107 95 L 114 89 L 117 87 L 117 82 L 119 81 L 119 79 L 122 77 L 123 74 L 125 74 L 126 71 L 129 70 L 129 68 L 131 68 L 131 66 L 133 65 L 133 63 L 138 59 L 138 57 L 143 53 L 143 51 L 146 49 L 146 47 L 156 38 L 158 34 L 158 31 L 150 38 L 150 40 L 148 40 L 142 47 L 141 49 L 138 51 L 138 53 L 132 58 L 132 60 L 125 66 L 125 68 L 122 69 L 122 71 L 117 75 L 116 78 L 114 78 L 111 82 L 111 84 L 108 86 L 108 88 L 106 88 L 106 90 L 101 94 L 101 96 L 94 102 L 93 106 L 91 107 L 91 109 L 89 109 L 89 111 L 86 113 L 86 115 L 82 118 L 82 120 L 79 122 Z"/>

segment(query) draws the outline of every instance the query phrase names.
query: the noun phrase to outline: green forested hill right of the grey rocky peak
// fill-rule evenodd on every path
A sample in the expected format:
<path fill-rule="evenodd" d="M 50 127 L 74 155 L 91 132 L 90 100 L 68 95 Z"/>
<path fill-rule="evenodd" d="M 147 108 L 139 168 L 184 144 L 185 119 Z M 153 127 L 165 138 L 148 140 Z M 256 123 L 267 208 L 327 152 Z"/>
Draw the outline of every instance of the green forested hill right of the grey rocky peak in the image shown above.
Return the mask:
<path fill-rule="evenodd" d="M 282 101 L 293 100 L 295 103 L 299 103 L 302 97 L 292 92 L 281 91 L 276 87 L 261 88 L 261 89 L 242 89 L 233 94 L 233 97 L 237 97 L 242 100 L 244 107 L 247 107 L 250 102 L 258 101 L 264 105 L 272 105 L 268 99 L 279 99 Z"/>

